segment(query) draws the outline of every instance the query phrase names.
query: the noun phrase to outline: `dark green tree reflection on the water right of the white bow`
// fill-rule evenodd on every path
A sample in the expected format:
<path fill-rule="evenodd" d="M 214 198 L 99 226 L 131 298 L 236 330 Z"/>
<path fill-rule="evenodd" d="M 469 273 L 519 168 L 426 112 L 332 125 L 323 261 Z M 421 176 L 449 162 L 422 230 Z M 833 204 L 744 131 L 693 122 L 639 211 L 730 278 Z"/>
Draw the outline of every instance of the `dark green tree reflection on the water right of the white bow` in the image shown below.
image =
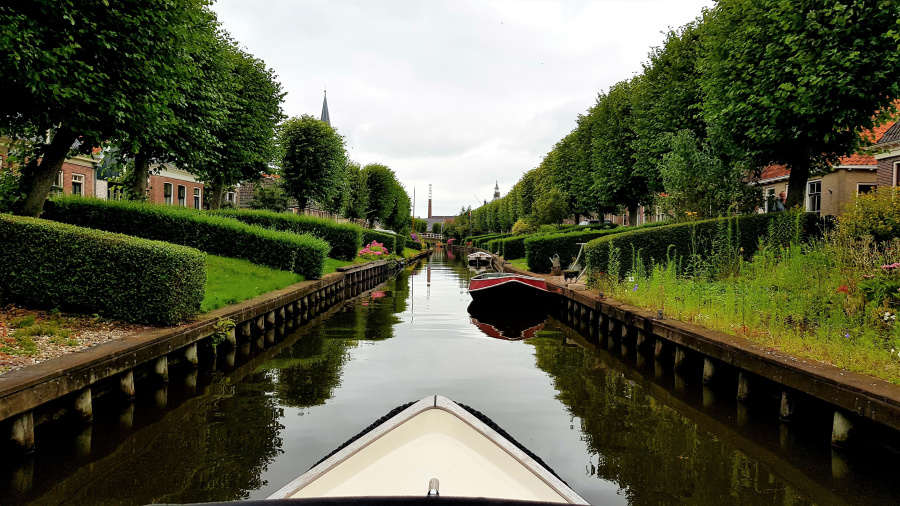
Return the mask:
<path fill-rule="evenodd" d="M 581 423 L 594 457 L 586 471 L 615 482 L 630 504 L 806 504 L 758 462 L 606 369 L 559 331 L 527 343 L 558 399 Z"/>

